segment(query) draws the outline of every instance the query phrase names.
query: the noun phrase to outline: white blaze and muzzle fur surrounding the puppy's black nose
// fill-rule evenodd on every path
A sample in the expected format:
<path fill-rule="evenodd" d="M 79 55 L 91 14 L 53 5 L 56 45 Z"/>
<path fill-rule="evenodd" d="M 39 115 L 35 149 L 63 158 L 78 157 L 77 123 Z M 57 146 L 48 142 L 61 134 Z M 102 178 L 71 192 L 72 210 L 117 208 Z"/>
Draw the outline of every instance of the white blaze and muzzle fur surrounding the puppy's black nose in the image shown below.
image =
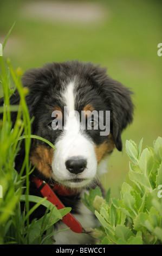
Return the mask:
<path fill-rule="evenodd" d="M 86 182 L 90 182 L 95 178 L 97 166 L 94 144 L 86 136 L 86 133 L 80 129 L 80 119 L 76 115 L 77 112 L 75 112 L 74 88 L 75 81 L 70 82 L 62 94 L 64 107 L 68 111 L 64 111 L 66 123 L 64 124 L 62 136 L 58 137 L 55 144 L 56 150 L 52 163 L 55 180 L 62 182 L 66 186 L 70 186 L 68 179 L 74 178 L 75 175 L 66 169 L 66 161 L 70 157 L 80 156 L 87 161 L 85 170 L 78 174 L 79 178 L 87 179 Z M 67 180 L 67 182 L 64 180 Z"/>

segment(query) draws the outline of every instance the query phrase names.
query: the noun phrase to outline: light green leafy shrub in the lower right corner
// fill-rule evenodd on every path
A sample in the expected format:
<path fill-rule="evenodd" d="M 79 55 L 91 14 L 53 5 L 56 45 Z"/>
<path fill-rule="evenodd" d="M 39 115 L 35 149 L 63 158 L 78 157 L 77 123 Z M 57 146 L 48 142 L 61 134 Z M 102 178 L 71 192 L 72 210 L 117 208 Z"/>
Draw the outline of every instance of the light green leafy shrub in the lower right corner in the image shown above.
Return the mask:
<path fill-rule="evenodd" d="M 110 190 L 103 199 L 99 188 L 85 194 L 83 202 L 101 224 L 89 231 L 101 244 L 162 243 L 162 138 L 153 146 L 141 151 L 142 139 L 138 148 L 133 141 L 126 141 L 131 162 L 120 199 L 110 199 Z"/>

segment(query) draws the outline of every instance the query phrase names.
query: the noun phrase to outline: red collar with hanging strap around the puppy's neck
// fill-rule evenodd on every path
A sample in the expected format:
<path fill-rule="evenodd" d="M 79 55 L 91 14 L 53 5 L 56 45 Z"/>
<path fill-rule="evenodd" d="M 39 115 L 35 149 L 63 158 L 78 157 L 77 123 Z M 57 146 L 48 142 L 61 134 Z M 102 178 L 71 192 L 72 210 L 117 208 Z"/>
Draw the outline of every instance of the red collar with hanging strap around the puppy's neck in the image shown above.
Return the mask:
<path fill-rule="evenodd" d="M 35 185 L 38 188 L 38 190 L 40 190 L 42 196 L 47 197 L 47 200 L 53 203 L 58 210 L 65 208 L 65 206 L 62 204 L 60 199 L 56 196 L 54 191 L 55 192 L 57 191 L 58 194 L 64 195 L 64 196 L 74 194 L 74 191 L 67 190 L 62 185 L 55 184 L 54 187 L 51 188 L 45 181 L 37 179 L 36 177 L 33 178 L 33 181 L 35 182 Z M 75 233 L 82 233 L 81 224 L 73 217 L 72 214 L 69 213 L 63 216 L 62 221 Z"/>

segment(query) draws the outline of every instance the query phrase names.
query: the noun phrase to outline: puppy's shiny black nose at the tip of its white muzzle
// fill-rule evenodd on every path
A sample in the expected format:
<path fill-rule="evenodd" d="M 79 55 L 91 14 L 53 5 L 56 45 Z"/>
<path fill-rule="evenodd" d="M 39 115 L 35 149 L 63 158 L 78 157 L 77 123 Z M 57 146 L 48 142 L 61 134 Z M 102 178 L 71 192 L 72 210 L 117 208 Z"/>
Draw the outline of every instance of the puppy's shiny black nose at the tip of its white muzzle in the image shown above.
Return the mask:
<path fill-rule="evenodd" d="M 82 173 L 87 166 L 86 159 L 80 157 L 73 157 L 66 161 L 66 168 L 70 173 L 78 174 Z"/>

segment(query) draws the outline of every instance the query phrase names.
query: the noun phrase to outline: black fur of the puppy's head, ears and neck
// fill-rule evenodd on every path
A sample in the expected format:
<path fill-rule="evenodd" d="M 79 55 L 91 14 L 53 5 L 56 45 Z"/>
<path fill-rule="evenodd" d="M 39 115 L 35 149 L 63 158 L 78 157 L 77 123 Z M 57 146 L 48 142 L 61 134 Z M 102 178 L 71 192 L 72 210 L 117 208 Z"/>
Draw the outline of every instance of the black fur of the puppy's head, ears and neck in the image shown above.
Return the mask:
<path fill-rule="evenodd" d="M 116 148 L 121 151 L 121 132 L 133 119 L 133 103 L 130 96 L 132 93 L 122 86 L 121 83 L 108 77 L 106 69 L 94 66 L 91 63 L 77 61 L 50 63 L 43 66 L 43 68 L 31 69 L 25 72 L 22 83 L 24 87 L 29 88 L 30 93 L 26 96 L 26 101 L 30 117 L 35 117 L 31 129 L 32 133 L 44 137 L 55 144 L 62 131 L 52 131 L 49 129 L 48 124 L 52 121 L 51 109 L 54 106 L 59 106 L 63 111 L 64 102 L 61 96 L 61 89 L 65 88 L 70 79 L 74 77 L 76 83 L 76 110 L 80 112 L 88 103 L 92 104 L 97 111 L 110 110 L 111 135 L 113 136 Z M 16 90 L 10 97 L 10 103 L 11 105 L 18 105 L 19 102 L 20 95 Z M 3 99 L 1 99 L 0 105 L 3 105 Z M 16 115 L 16 112 L 13 112 L 11 116 L 13 125 Z M 99 136 L 99 130 L 89 130 L 86 132 L 87 136 L 93 139 L 96 145 L 100 145 L 103 141 L 108 140 L 106 136 Z M 34 147 L 40 144 L 48 147 L 46 143 L 41 141 L 36 141 Z M 23 159 L 24 148 L 22 144 L 20 154 L 16 157 L 16 169 L 18 171 L 21 169 Z M 35 175 L 38 178 L 46 179 L 37 169 L 35 170 Z M 32 182 L 30 192 L 31 194 L 41 196 Z M 61 199 L 66 206 L 74 206 L 77 202 L 76 199 L 80 198 L 80 196 L 77 194 L 73 197 L 73 200 L 68 198 L 67 200 Z M 76 207 L 73 207 L 73 211 L 76 211 Z M 34 217 L 39 218 L 42 214 L 43 212 L 39 210 L 35 212 Z"/>

